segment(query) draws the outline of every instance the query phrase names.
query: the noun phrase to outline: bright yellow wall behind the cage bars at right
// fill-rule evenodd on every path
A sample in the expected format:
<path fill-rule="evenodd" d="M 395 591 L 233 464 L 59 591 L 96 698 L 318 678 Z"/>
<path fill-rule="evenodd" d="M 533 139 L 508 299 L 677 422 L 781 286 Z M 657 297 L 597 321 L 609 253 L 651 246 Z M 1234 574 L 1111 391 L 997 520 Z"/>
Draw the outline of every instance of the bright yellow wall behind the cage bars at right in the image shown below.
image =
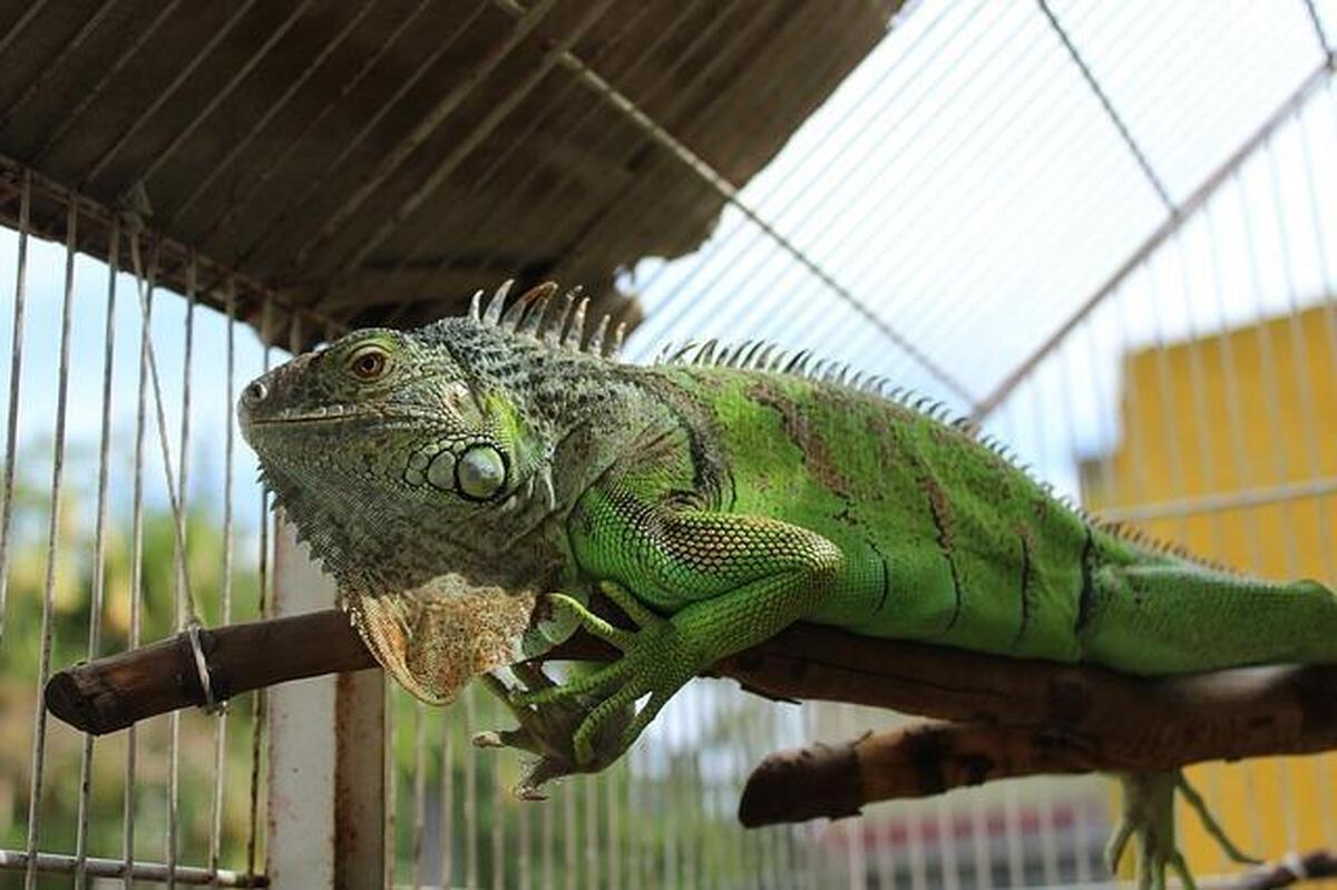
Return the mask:
<path fill-rule="evenodd" d="M 1337 313 L 1298 315 L 1128 355 L 1122 441 L 1083 468 L 1095 508 L 1337 477 Z M 1142 523 L 1241 569 L 1337 583 L 1337 496 Z M 1337 845 L 1337 754 L 1190 770 L 1230 837 L 1275 858 Z M 1181 812 L 1199 874 L 1226 861 Z"/>

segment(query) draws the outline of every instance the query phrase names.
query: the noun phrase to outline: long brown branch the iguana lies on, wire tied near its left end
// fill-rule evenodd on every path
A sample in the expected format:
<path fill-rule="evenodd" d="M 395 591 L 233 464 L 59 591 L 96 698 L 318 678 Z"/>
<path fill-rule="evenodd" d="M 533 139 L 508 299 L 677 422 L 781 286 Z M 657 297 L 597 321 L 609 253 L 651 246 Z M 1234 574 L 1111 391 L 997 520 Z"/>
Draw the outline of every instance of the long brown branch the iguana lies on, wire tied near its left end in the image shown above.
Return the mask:
<path fill-rule="evenodd" d="M 373 667 L 346 616 L 334 609 L 203 631 L 201 643 L 218 699 L 303 676 Z M 550 657 L 607 660 L 614 655 L 607 645 L 578 635 Z M 995 747 L 1029 739 L 1036 754 L 1052 752 L 1048 762 L 1036 754 L 1029 762 L 1071 768 L 1171 768 L 1197 760 L 1337 747 L 1337 665 L 1140 680 L 1094 667 L 876 640 L 798 624 L 722 660 L 711 672 L 778 699 L 893 708 L 965 723 L 963 732 L 972 724 L 1015 728 L 999 736 Z M 99 734 L 202 703 L 185 635 L 68 668 L 47 686 L 52 714 Z M 975 736 L 975 744 L 983 744 L 983 736 Z M 1004 750 L 1013 751 L 1011 762 L 1024 762 L 1015 756 L 1017 748 Z M 1083 759 L 1078 760 L 1079 755 Z"/>

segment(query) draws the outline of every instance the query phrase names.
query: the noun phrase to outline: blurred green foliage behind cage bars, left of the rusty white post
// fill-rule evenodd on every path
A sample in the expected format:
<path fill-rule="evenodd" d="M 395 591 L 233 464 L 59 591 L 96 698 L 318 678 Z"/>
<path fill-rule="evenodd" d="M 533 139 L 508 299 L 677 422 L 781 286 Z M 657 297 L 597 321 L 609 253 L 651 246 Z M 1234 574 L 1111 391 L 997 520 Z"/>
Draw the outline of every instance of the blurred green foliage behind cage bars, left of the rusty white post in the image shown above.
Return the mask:
<path fill-rule="evenodd" d="M 51 518 L 48 478 L 37 469 L 40 450 L 24 452 L 19 460 L 15 490 L 13 543 L 8 573 L 8 608 L 0 639 L 0 843 L 24 849 L 28 830 L 28 788 L 32 778 L 32 734 L 37 703 L 37 670 L 43 640 L 43 599 L 47 576 L 47 540 Z M 56 671 L 88 657 L 90 613 L 98 563 L 95 547 L 96 456 L 76 452 L 66 468 L 66 488 L 57 523 L 55 583 L 51 596 L 51 670 Z M 124 470 L 126 461 L 120 461 Z M 49 470 L 48 470 L 49 472 Z M 146 478 L 148 470 L 146 469 Z M 99 655 L 119 652 L 131 644 L 138 621 L 138 637 L 148 643 L 174 632 L 176 596 L 176 544 L 172 518 L 164 505 L 143 509 L 143 580 L 132 588 L 131 486 L 128 472 L 112 473 L 114 497 L 108 510 Z M 154 490 L 160 490 L 160 482 Z M 223 596 L 225 537 L 221 506 L 205 497 L 193 497 L 186 521 L 190 588 L 206 623 L 221 617 Z M 255 557 L 246 536 L 233 541 L 231 617 L 247 620 L 257 615 Z M 135 600 L 138 599 L 138 616 Z M 245 867 L 250 825 L 250 746 L 251 702 L 231 703 L 226 720 L 201 712 L 180 718 L 178 759 L 179 792 L 178 861 L 206 865 L 214 808 L 215 746 L 219 728 L 226 726 L 223 782 L 221 784 L 221 865 Z M 132 821 L 135 857 L 162 862 L 166 858 L 168 799 L 170 720 L 156 718 L 135 727 L 136 764 L 132 778 Z M 92 748 L 88 794 L 88 854 L 120 858 L 124 850 L 127 750 L 131 732 L 122 731 L 96 739 Z M 39 812 L 39 849 L 74 853 L 79 825 L 80 762 L 84 736 L 55 718 L 47 720 L 43 792 Z M 262 817 L 263 818 L 263 814 Z M 262 861 L 261 863 L 262 865 Z M 13 875 L 0 874 L 0 886 Z M 68 886 L 68 878 L 48 878 L 51 886 Z"/>

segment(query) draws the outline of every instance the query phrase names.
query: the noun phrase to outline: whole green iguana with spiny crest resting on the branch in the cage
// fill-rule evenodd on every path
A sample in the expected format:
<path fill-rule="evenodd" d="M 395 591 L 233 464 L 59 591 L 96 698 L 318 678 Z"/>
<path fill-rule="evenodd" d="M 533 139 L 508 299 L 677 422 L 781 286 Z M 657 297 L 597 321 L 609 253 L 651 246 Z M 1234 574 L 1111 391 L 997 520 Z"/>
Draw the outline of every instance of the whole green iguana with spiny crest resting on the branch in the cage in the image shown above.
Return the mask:
<path fill-rule="evenodd" d="M 1337 660 L 1332 591 L 1103 525 L 881 380 L 762 343 L 620 363 L 607 318 L 586 341 L 575 294 L 550 317 L 555 286 L 507 290 L 299 355 L 239 413 L 275 502 L 414 695 L 449 700 L 576 623 L 622 651 L 563 684 L 489 679 L 521 723 L 491 740 L 543 754 L 527 792 L 616 759 L 687 680 L 800 619 L 1135 675 Z M 586 608 L 595 588 L 635 629 Z M 1126 780 L 1114 853 L 1138 834 L 1143 882 L 1187 879 L 1181 783 Z"/>

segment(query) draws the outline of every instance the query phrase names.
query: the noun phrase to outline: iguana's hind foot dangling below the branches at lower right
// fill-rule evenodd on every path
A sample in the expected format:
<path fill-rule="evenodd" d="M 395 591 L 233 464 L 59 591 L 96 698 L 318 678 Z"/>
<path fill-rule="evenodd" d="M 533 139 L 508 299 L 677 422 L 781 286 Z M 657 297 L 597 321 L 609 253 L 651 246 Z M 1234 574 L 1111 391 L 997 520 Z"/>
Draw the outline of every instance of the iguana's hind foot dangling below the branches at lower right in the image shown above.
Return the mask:
<path fill-rule="evenodd" d="M 1183 794 L 1183 799 L 1198 814 L 1203 827 L 1221 845 L 1226 855 L 1239 863 L 1258 863 L 1258 859 L 1245 855 L 1239 847 L 1230 842 L 1221 825 L 1207 812 L 1202 796 L 1189 784 L 1182 771 L 1126 772 L 1119 775 L 1119 782 L 1123 784 L 1123 814 L 1106 846 L 1106 863 L 1110 866 L 1110 871 L 1116 873 L 1128 841 L 1136 839 L 1139 890 L 1163 890 L 1166 869 L 1171 869 L 1185 887 L 1191 890 L 1197 886 L 1189 863 L 1175 846 L 1174 795 L 1177 791 Z"/>

